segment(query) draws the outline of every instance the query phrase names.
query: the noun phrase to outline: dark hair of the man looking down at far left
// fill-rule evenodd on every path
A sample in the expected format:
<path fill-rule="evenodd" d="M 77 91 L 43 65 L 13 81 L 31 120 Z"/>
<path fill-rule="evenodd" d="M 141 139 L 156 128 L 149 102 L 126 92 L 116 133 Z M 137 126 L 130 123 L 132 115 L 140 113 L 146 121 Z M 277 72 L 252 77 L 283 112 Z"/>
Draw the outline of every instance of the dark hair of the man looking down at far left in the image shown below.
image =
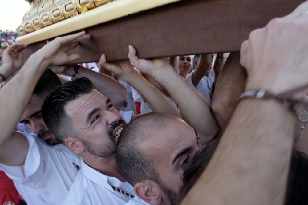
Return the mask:
<path fill-rule="evenodd" d="M 57 74 L 52 72 L 51 69 L 46 69 L 35 85 L 33 94 L 44 99 L 56 86 L 61 84 Z"/>

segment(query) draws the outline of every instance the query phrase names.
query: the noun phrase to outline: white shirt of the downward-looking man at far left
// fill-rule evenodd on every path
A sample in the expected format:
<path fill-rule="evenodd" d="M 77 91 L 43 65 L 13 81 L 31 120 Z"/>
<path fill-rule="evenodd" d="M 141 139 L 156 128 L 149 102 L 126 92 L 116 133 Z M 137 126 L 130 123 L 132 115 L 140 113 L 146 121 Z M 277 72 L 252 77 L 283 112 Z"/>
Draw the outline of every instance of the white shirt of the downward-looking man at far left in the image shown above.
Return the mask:
<path fill-rule="evenodd" d="M 35 134 L 20 133 L 29 142 L 25 164 L 19 167 L 0 164 L 0 169 L 14 181 L 27 204 L 62 203 L 78 174 L 73 163 L 80 166 L 80 157 L 63 144 L 51 146 Z"/>

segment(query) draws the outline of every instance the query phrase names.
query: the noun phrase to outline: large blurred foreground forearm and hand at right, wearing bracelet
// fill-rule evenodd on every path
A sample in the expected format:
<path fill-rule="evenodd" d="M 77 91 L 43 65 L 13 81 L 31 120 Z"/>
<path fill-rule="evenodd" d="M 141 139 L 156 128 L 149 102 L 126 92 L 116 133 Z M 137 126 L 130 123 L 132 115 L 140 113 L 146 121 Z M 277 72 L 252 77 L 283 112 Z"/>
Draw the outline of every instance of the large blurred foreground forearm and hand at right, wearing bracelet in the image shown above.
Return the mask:
<path fill-rule="evenodd" d="M 307 85 L 308 39 L 300 38 L 308 34 L 307 10 L 306 1 L 242 44 L 246 89 L 278 95 Z M 242 100 L 182 204 L 284 204 L 295 120 L 294 112 L 274 98 Z"/>

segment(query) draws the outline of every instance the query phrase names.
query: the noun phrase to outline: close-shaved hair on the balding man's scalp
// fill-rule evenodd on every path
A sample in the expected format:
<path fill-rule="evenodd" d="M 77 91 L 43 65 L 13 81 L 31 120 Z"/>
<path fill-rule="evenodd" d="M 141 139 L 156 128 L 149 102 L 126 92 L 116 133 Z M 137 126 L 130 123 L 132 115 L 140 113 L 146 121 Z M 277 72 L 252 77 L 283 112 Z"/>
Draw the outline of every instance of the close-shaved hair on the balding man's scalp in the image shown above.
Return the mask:
<path fill-rule="evenodd" d="M 132 120 L 121 132 L 115 160 L 121 174 L 132 186 L 141 180 L 152 180 L 161 184 L 151 157 L 147 156 L 138 144 L 164 128 L 170 118 L 176 117 L 152 112 Z"/>

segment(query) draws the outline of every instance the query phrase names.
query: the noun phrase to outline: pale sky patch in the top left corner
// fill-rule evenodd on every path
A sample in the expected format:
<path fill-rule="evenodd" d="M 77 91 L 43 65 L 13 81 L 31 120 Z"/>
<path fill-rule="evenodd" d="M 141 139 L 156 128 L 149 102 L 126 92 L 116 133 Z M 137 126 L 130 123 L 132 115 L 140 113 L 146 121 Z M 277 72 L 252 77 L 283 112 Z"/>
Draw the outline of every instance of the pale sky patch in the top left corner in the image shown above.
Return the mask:
<path fill-rule="evenodd" d="M 22 23 L 30 4 L 25 0 L 0 0 L 0 8 L 0 29 L 15 30 Z"/>

